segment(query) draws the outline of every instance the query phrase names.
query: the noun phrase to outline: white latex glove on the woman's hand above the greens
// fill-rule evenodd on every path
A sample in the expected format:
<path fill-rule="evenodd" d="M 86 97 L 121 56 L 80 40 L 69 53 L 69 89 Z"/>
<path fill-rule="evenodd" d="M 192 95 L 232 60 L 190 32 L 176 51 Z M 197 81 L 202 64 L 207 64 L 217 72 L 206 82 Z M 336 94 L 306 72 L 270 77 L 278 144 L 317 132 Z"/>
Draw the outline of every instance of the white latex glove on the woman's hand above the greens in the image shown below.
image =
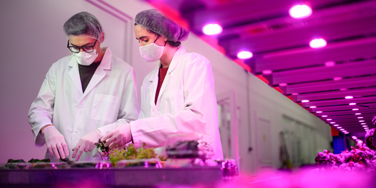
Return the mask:
<path fill-rule="evenodd" d="M 107 140 L 107 141 L 106 141 Z M 116 127 L 116 129 L 109 132 L 102 138 L 102 142 L 106 141 L 105 147 L 110 146 L 110 149 L 114 147 L 123 147 L 132 140 L 132 133 L 130 132 L 130 124 L 123 124 Z"/>

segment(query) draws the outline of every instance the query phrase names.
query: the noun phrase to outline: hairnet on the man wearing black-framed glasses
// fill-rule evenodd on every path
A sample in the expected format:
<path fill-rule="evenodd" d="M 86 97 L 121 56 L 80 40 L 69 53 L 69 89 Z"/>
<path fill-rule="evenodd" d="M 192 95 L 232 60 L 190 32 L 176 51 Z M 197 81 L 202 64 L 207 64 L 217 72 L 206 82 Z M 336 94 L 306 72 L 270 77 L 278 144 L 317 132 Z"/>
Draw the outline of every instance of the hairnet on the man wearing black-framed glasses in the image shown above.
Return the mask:
<path fill-rule="evenodd" d="M 64 33 L 67 39 L 74 36 L 86 36 L 97 39 L 101 43 L 106 37 L 102 24 L 89 12 L 80 12 L 70 17 L 64 23 Z"/>

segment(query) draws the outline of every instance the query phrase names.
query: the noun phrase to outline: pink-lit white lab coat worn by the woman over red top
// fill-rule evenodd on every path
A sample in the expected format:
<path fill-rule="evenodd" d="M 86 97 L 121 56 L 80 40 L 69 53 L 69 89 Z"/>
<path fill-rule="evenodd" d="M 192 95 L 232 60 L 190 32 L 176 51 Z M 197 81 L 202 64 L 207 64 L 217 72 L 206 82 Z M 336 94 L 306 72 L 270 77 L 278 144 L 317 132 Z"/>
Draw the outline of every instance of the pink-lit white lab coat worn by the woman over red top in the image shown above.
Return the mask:
<path fill-rule="evenodd" d="M 180 46 L 168 67 L 155 105 L 160 66 L 161 63 L 145 77 L 141 86 L 141 111 L 138 120 L 130 122 L 135 147 L 146 143 L 146 147 L 164 154 L 169 134 L 206 133 L 215 152 L 212 159 L 223 159 L 214 77 L 208 59 L 197 53 L 186 53 Z"/>

